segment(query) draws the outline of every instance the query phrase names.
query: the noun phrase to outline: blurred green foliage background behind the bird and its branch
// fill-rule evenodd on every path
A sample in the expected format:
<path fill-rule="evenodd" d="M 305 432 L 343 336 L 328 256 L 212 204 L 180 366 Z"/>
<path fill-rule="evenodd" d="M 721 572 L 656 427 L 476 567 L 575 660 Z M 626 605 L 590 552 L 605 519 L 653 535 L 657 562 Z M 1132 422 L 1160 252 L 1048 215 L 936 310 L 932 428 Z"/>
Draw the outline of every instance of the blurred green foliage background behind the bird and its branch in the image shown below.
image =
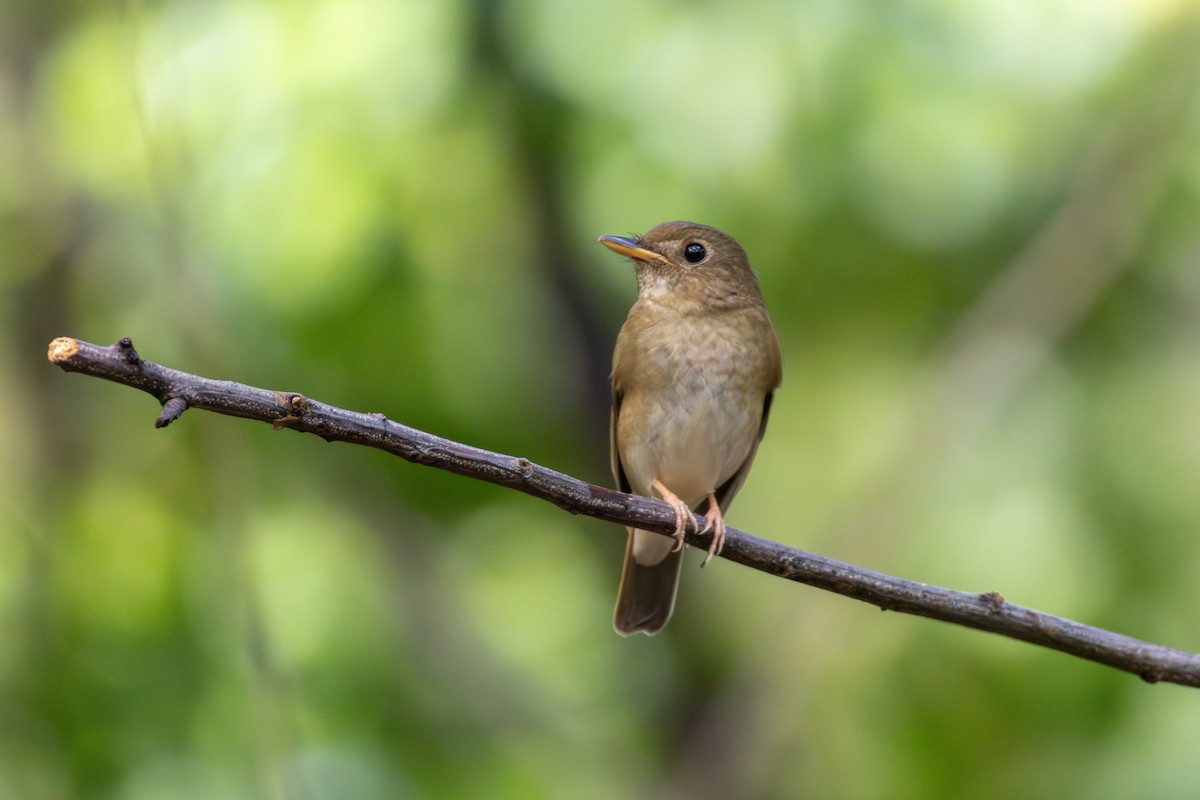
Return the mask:
<path fill-rule="evenodd" d="M 0 5 L 0 798 L 1195 798 L 1200 694 L 68 375 L 53 337 L 608 483 L 635 289 L 746 247 L 731 523 L 1200 650 L 1186 0 Z"/>

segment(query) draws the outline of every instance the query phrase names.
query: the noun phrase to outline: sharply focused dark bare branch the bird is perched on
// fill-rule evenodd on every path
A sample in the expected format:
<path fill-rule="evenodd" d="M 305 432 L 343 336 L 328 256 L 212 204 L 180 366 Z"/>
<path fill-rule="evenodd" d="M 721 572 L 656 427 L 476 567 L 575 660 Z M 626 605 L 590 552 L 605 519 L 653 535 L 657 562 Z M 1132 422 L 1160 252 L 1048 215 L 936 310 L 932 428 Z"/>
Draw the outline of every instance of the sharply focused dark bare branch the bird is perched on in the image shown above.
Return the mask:
<path fill-rule="evenodd" d="M 394 422 L 382 414 L 348 411 L 295 392 L 275 392 L 228 380 L 211 380 L 143 361 L 128 339 L 109 348 L 58 338 L 49 360 L 67 372 L 104 378 L 154 395 L 162 404 L 155 421 L 166 427 L 188 408 L 270 422 L 275 428 L 314 433 L 329 441 L 377 447 L 404 461 L 436 467 L 532 494 L 571 513 L 670 534 L 674 515 L 659 500 L 623 494 L 539 467 Z M 702 527 L 703 518 L 697 517 Z M 622 531 L 624 535 L 624 531 Z M 707 549 L 708 536 L 688 542 Z M 1014 606 L 996 593 L 968 594 L 913 583 L 814 555 L 728 529 L 722 558 L 788 581 L 860 600 L 884 610 L 928 616 L 998 633 L 1140 675 L 1200 687 L 1200 655 L 1140 642 L 1061 616 Z"/>

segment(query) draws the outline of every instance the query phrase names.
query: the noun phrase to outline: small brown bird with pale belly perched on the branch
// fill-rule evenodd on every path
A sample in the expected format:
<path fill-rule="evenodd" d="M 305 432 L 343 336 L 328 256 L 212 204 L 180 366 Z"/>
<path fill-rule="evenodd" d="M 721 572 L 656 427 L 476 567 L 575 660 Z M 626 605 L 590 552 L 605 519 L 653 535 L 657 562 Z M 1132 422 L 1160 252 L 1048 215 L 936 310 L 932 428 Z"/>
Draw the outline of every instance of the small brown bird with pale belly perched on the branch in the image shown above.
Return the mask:
<path fill-rule="evenodd" d="M 637 302 L 612 354 L 612 473 L 618 488 L 674 510 L 674 541 L 629 530 L 613 626 L 655 633 L 674 607 L 684 534 L 708 503 L 712 545 L 750 471 L 782 377 L 758 279 L 731 236 L 666 222 L 644 236 L 600 236 L 637 272 Z"/>

